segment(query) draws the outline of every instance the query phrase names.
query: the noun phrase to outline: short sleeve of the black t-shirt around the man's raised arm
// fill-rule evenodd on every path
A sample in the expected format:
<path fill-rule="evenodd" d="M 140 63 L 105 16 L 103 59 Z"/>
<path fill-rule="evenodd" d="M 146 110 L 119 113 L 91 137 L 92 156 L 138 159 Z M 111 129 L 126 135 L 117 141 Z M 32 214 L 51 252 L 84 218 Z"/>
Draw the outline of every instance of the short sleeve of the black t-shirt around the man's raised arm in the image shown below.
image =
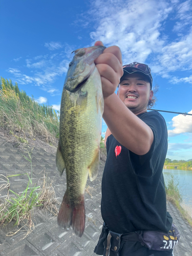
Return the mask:
<path fill-rule="evenodd" d="M 140 119 L 152 129 L 154 141 L 145 155 L 138 156 L 130 151 L 131 164 L 136 175 L 152 177 L 157 170 L 163 169 L 167 153 L 167 127 L 162 115 L 156 111 L 147 112 Z"/>

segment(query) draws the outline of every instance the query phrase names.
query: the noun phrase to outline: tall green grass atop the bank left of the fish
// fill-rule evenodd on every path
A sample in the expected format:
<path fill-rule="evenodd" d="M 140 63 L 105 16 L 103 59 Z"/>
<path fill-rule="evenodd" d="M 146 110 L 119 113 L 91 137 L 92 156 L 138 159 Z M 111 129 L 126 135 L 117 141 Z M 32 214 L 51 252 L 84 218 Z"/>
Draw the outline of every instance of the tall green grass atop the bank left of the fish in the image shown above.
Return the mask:
<path fill-rule="evenodd" d="M 39 104 L 25 91 L 19 91 L 17 83 L 0 79 L 0 126 L 15 135 L 21 143 L 27 138 L 57 144 L 59 136 L 59 112 L 52 106 Z"/>

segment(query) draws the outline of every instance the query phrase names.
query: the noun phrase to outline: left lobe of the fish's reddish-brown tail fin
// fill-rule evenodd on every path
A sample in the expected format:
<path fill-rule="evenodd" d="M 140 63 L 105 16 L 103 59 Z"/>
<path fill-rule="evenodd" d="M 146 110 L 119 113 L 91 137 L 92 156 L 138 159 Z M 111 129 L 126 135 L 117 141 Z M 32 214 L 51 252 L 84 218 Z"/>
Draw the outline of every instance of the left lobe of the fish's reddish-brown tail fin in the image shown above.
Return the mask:
<path fill-rule="evenodd" d="M 59 214 L 57 217 L 58 225 L 63 228 L 69 228 L 71 226 L 72 216 L 73 208 L 70 206 L 68 192 L 66 191 L 65 195 L 63 196 Z"/>

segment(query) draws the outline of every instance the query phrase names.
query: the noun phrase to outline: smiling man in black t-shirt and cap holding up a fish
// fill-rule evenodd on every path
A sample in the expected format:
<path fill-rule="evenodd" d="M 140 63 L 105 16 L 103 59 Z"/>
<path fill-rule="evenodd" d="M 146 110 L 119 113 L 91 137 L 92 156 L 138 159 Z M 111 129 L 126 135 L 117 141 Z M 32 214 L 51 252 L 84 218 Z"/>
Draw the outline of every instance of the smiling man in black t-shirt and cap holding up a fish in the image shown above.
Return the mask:
<path fill-rule="evenodd" d="M 166 211 L 162 175 L 167 129 L 158 112 L 147 112 L 153 100 L 151 71 L 137 62 L 122 70 L 121 52 L 116 46 L 106 48 L 95 63 L 101 75 L 103 119 L 108 125 L 101 200 L 105 224 L 95 252 L 106 256 L 173 255 L 176 241 L 169 242 L 172 217 Z M 150 233 L 142 235 L 143 231 L 153 231 L 149 239 L 153 246 L 147 244 Z M 177 240 L 175 233 L 172 238 Z M 102 247 L 103 243 L 105 248 L 100 251 L 99 244 Z"/>

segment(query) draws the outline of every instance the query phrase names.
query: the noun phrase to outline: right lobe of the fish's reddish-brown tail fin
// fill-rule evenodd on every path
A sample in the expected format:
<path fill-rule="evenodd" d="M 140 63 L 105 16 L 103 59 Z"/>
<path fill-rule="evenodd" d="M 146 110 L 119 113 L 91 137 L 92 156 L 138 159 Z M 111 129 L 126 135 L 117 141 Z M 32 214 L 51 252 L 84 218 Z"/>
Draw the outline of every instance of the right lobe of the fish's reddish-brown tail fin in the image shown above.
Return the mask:
<path fill-rule="evenodd" d="M 78 237 L 81 237 L 84 232 L 86 223 L 86 210 L 84 209 L 84 196 L 81 195 L 78 204 L 74 206 L 71 226 Z"/>

